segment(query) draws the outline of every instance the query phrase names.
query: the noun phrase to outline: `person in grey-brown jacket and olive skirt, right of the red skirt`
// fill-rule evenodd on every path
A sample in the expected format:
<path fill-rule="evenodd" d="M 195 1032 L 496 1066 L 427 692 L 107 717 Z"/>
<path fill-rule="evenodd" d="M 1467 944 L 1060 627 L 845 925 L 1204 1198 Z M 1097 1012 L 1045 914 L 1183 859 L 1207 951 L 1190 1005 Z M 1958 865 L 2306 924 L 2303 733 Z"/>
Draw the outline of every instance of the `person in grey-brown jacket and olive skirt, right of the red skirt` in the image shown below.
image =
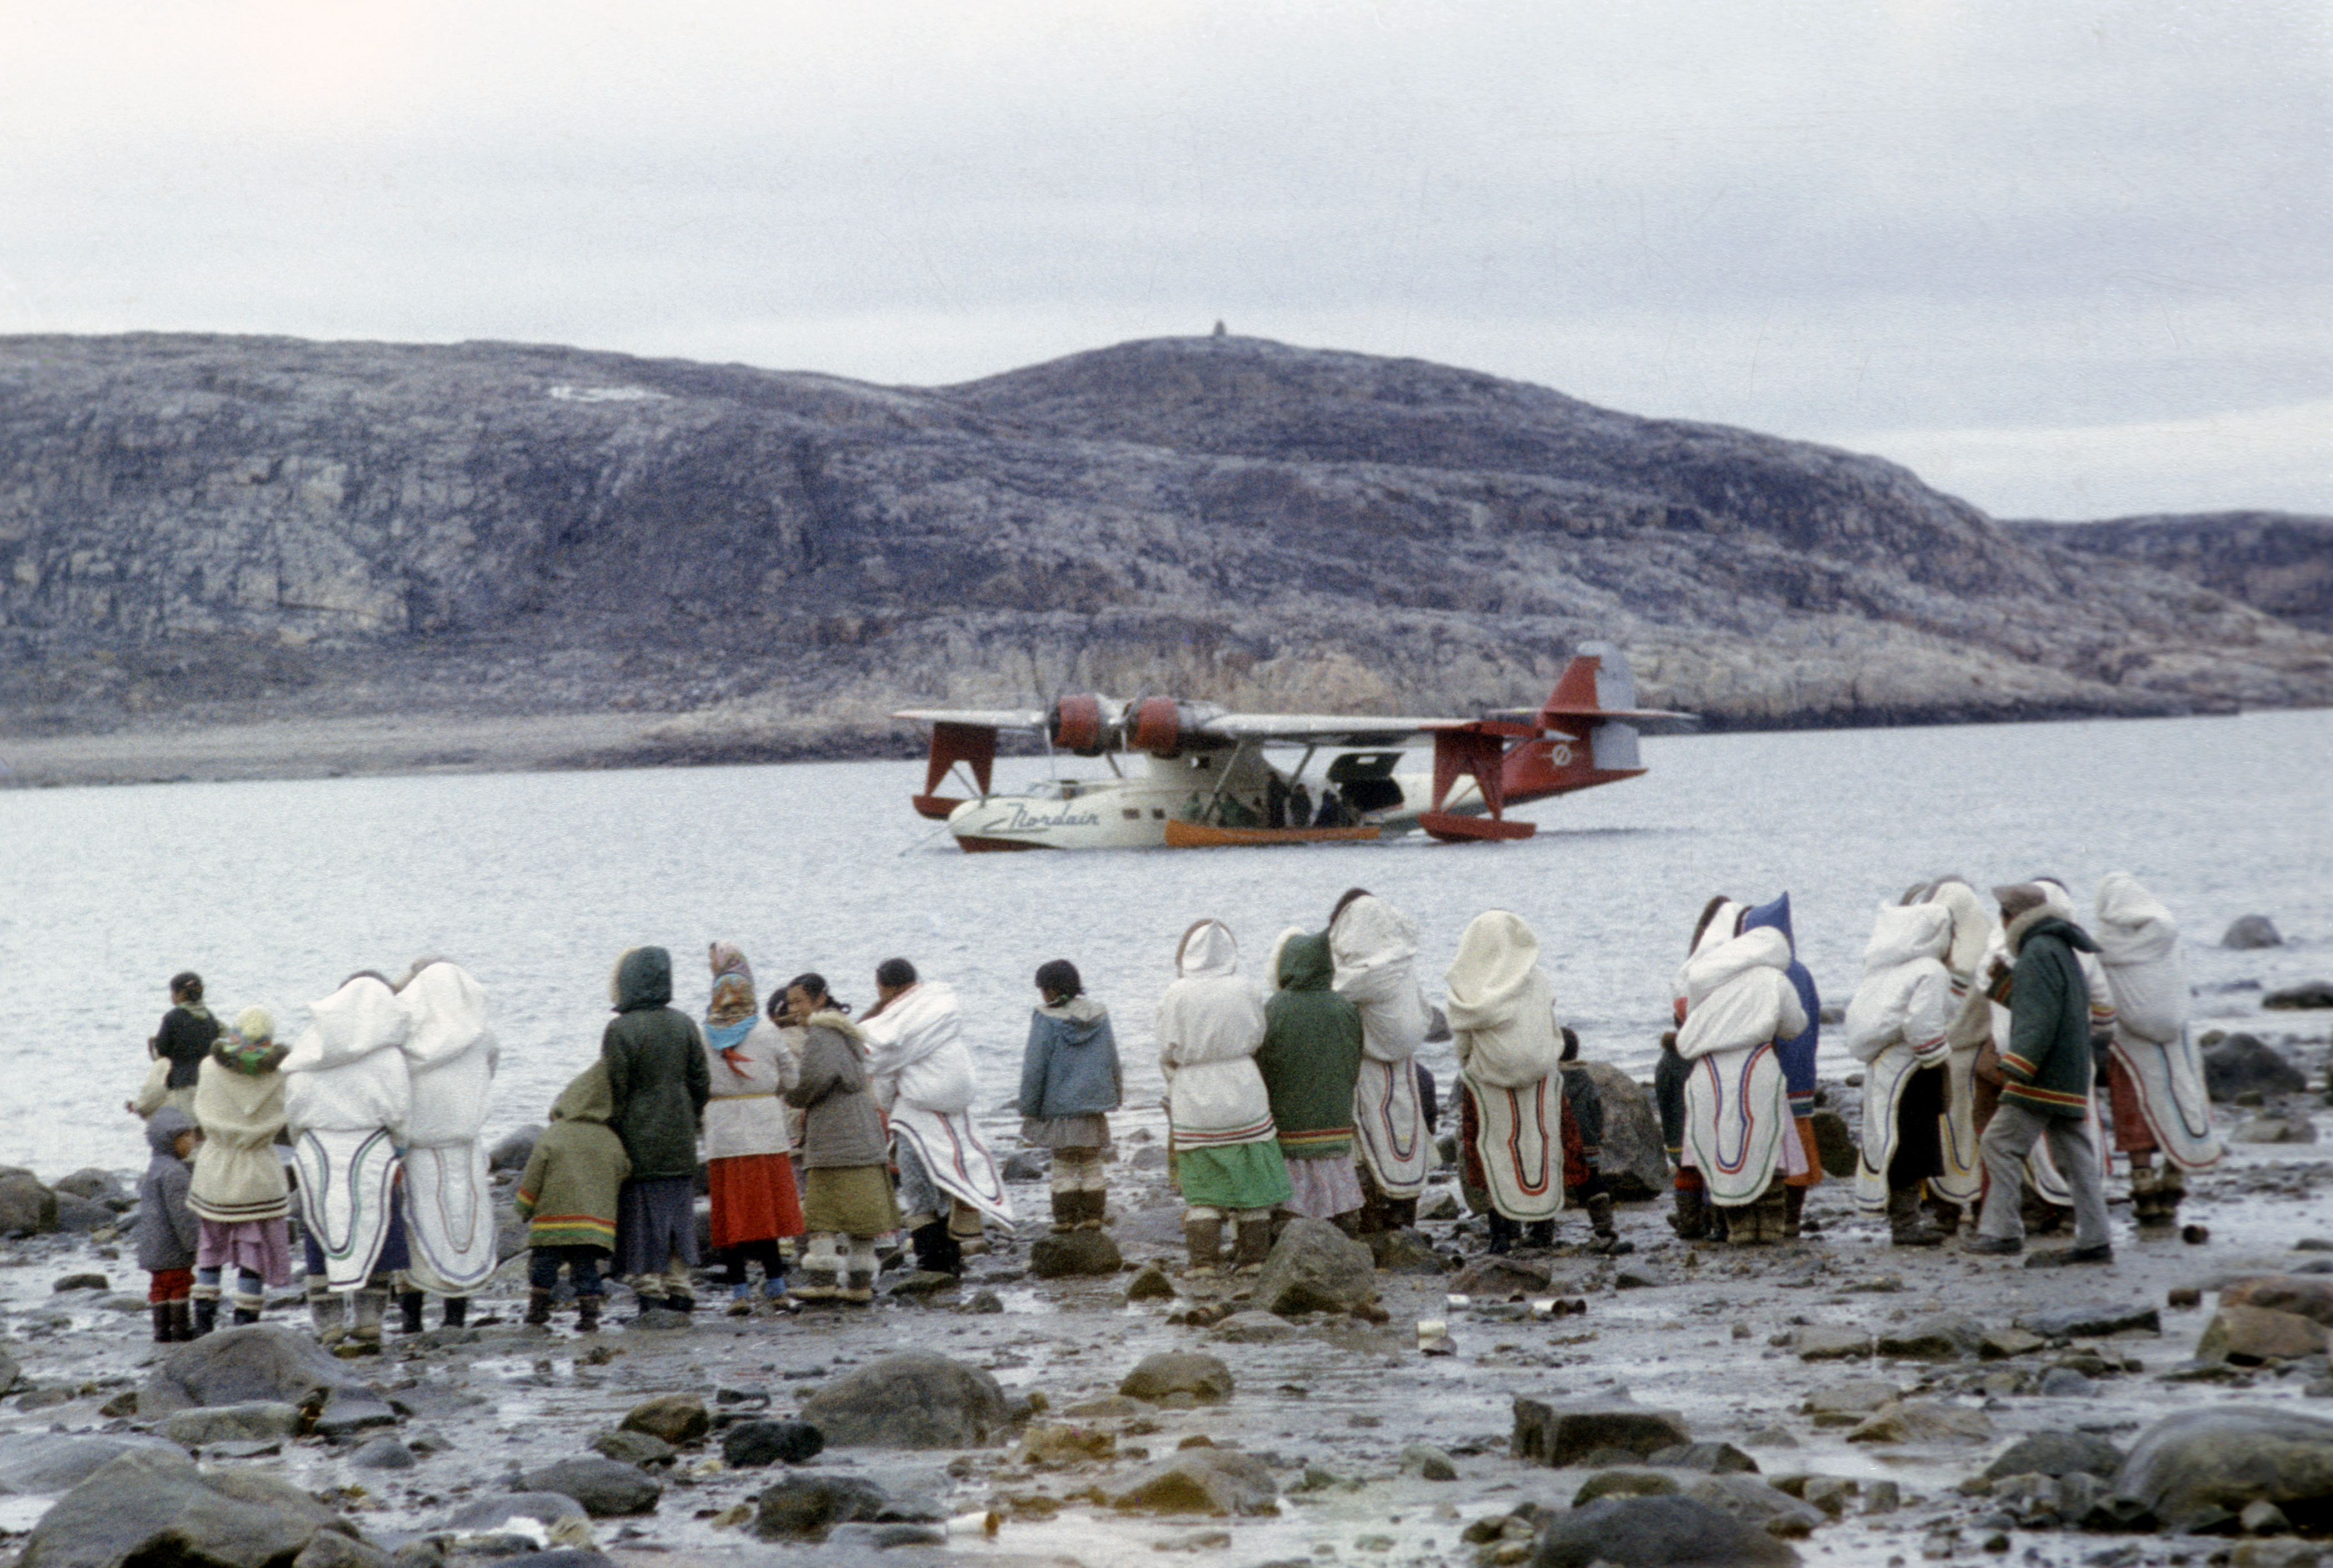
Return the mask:
<path fill-rule="evenodd" d="M 803 1029 L 803 1076 L 786 1090 L 786 1104 L 803 1108 L 810 1241 L 793 1293 L 866 1304 L 875 1300 L 875 1241 L 898 1230 L 882 1111 L 868 1094 L 866 1036 L 819 975 L 796 975 L 779 996 L 770 999 L 770 1022 Z"/>

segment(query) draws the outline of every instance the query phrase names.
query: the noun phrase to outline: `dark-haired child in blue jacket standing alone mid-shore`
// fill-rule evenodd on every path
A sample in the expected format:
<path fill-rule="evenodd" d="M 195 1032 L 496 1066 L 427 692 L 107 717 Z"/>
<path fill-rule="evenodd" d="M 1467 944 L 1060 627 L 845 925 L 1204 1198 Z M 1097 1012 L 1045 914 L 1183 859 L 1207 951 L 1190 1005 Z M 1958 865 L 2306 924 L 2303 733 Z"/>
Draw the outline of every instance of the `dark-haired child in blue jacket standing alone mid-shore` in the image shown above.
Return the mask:
<path fill-rule="evenodd" d="M 1036 994 L 1022 1045 L 1022 1143 L 1052 1150 L 1052 1230 L 1101 1230 L 1111 1188 L 1101 1155 L 1125 1094 L 1111 1010 L 1085 994 L 1069 959 L 1038 964 Z"/>

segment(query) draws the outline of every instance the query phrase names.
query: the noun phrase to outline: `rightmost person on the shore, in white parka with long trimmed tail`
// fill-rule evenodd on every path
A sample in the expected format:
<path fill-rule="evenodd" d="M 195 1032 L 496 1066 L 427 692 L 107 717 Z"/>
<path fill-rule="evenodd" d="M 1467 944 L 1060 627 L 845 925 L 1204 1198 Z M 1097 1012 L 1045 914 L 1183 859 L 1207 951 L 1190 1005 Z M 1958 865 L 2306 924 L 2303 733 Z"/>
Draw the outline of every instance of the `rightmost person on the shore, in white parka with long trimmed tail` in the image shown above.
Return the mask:
<path fill-rule="evenodd" d="M 2186 1031 L 2179 922 L 2137 877 L 2111 870 L 2097 882 L 2090 936 L 2114 994 L 2107 1099 L 2114 1146 L 2130 1160 L 2130 1206 L 2139 1225 L 2177 1225 L 2181 1171 L 2209 1169 L 2228 1153 L 2212 1127 L 2202 1059 Z"/>

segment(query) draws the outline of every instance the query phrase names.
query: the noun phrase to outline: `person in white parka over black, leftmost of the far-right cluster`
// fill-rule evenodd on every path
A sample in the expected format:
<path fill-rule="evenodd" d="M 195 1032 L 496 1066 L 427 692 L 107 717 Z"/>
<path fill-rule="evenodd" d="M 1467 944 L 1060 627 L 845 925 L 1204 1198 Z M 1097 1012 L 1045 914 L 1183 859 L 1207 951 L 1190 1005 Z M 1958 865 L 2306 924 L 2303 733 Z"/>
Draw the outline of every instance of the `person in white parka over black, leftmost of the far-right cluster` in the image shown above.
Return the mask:
<path fill-rule="evenodd" d="M 1943 1174 L 1950 945 L 1953 915 L 1943 905 L 1883 905 L 1848 1003 L 1848 1055 L 1866 1069 L 1855 1202 L 1887 1211 L 1892 1246 L 1943 1244 L 1943 1232 L 1920 1218 L 1920 1188 Z"/>

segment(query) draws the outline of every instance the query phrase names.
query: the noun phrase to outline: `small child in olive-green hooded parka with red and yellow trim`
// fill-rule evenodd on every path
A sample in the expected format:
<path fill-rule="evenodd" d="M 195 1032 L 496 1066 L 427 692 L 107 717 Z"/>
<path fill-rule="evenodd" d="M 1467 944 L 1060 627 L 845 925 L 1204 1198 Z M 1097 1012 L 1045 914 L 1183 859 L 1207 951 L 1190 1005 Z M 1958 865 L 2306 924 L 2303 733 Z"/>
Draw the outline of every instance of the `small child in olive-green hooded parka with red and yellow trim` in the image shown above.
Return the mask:
<path fill-rule="evenodd" d="M 527 1230 L 527 1323 L 551 1323 L 551 1293 L 560 1265 L 576 1288 L 576 1332 L 600 1328 L 600 1262 L 616 1251 L 616 1195 L 632 1174 L 623 1139 L 607 1125 L 616 1099 L 607 1087 L 607 1064 L 593 1062 L 569 1083 L 551 1127 L 534 1141 L 518 1178 L 518 1218 Z"/>

